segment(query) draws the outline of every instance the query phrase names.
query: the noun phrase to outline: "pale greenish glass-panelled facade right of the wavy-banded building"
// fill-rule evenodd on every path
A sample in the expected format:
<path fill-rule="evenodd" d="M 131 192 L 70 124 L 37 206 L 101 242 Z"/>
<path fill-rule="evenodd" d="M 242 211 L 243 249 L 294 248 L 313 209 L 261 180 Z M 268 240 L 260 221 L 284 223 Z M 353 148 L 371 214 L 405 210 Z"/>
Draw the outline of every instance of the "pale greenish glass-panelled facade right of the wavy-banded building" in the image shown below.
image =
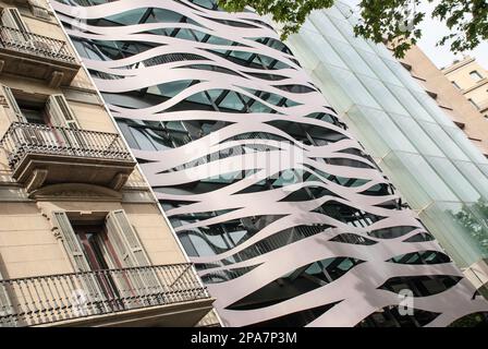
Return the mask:
<path fill-rule="evenodd" d="M 486 292 L 488 160 L 385 45 L 353 33 L 337 2 L 290 38 L 314 83 L 406 203 Z"/>

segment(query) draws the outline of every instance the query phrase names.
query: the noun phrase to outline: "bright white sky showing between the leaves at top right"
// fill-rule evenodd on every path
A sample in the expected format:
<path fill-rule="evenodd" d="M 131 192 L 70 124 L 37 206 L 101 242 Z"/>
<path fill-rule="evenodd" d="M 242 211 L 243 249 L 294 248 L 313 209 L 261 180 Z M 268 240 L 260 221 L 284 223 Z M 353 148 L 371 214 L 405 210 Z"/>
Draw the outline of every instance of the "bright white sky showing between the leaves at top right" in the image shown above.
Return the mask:
<path fill-rule="evenodd" d="M 358 3 L 357 0 L 342 0 L 350 5 Z M 453 55 L 450 51 L 450 45 L 436 46 L 436 44 L 449 33 L 448 27 L 440 21 L 430 17 L 430 13 L 436 3 L 429 3 L 427 0 L 422 1 L 422 5 L 417 8 L 417 11 L 426 13 L 426 16 L 420 25 L 423 37 L 418 43 L 420 49 L 427 55 L 428 58 L 438 67 L 443 68 L 450 65 L 454 59 L 462 59 L 463 55 L 476 58 L 476 61 L 480 63 L 486 70 L 488 70 L 488 43 L 481 43 L 475 50 L 466 51 L 461 55 Z"/>

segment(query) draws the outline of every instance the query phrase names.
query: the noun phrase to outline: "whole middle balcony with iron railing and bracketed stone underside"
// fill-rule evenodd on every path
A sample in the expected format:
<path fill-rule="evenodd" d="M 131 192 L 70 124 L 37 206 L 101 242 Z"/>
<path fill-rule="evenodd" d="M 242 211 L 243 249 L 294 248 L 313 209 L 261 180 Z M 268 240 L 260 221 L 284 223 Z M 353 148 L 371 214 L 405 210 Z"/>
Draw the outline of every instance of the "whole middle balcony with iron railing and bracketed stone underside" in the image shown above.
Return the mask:
<path fill-rule="evenodd" d="M 0 141 L 12 177 L 28 193 L 84 183 L 119 191 L 135 163 L 117 133 L 13 122 Z"/>

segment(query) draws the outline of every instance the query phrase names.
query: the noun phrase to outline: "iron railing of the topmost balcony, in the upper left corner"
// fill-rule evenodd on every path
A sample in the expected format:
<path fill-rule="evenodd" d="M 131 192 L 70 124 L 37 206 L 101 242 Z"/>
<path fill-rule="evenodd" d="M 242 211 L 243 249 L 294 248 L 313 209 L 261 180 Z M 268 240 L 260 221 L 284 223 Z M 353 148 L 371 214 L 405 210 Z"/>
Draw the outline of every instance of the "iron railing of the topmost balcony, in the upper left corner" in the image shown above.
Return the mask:
<path fill-rule="evenodd" d="M 2 25 L 0 25 L 0 48 L 76 63 L 65 41 Z"/>

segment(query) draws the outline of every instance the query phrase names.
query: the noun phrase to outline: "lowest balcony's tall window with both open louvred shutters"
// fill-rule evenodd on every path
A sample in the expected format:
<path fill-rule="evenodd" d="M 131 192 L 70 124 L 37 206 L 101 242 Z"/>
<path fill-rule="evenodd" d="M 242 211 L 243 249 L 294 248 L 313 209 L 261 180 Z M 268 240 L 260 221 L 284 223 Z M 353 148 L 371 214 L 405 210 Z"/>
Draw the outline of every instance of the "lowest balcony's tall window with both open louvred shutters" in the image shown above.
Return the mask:
<path fill-rule="evenodd" d="M 95 272 L 84 274 L 82 278 L 84 290 L 95 299 L 139 299 L 139 292 L 162 289 L 158 277 L 150 270 L 121 270 L 150 265 L 124 210 L 94 214 L 83 219 L 78 213 L 54 212 L 52 220 L 74 269 Z M 109 269 L 112 273 L 106 272 Z M 120 310 L 124 304 L 111 301 L 107 305 Z"/>

